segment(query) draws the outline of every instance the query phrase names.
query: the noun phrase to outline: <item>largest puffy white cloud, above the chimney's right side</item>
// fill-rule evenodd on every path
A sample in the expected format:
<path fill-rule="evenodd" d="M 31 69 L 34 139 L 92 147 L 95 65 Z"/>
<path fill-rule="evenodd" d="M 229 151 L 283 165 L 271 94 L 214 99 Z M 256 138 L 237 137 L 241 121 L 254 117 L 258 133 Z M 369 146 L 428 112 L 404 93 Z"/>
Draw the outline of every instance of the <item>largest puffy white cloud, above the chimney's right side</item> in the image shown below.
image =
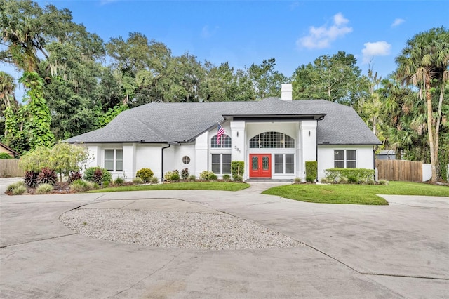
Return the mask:
<path fill-rule="evenodd" d="M 337 13 L 333 16 L 333 24 L 323 25 L 321 27 L 311 26 L 309 28 L 309 34 L 307 36 L 297 39 L 296 44 L 302 48 L 328 48 L 330 43 L 352 32 L 352 27 L 346 26 L 349 22 L 347 18 L 344 18 L 342 13 Z"/>

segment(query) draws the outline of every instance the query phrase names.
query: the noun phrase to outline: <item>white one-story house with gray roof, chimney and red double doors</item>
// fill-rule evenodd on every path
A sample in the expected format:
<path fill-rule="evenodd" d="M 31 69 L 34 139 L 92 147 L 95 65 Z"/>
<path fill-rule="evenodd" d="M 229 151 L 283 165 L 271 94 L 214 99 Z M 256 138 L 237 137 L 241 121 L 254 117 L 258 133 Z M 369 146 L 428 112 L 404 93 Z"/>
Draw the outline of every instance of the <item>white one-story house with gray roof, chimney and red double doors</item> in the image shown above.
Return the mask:
<path fill-rule="evenodd" d="M 225 129 L 217 142 L 219 124 Z M 305 162 L 327 168 L 374 168 L 380 144 L 351 107 L 327 100 L 281 98 L 256 102 L 150 103 L 121 112 L 104 128 L 66 140 L 83 143 L 114 178 L 131 180 L 141 168 L 163 173 L 188 168 L 199 177 L 231 173 L 244 161 L 243 179 L 305 178 Z"/>

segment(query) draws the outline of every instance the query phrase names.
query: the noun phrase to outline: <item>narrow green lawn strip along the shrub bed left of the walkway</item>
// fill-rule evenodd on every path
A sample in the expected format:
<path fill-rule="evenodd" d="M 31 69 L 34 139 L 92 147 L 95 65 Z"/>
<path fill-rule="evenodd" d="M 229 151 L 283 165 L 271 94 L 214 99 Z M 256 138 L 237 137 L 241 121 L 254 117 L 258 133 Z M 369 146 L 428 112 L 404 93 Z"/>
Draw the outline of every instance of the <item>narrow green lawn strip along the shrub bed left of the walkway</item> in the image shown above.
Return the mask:
<path fill-rule="evenodd" d="M 174 182 L 171 184 L 158 185 L 138 185 L 138 186 L 120 186 L 109 187 L 98 190 L 91 190 L 88 193 L 95 192 L 120 192 L 120 191 L 141 191 L 141 190 L 222 190 L 239 191 L 250 187 L 245 182 Z"/>

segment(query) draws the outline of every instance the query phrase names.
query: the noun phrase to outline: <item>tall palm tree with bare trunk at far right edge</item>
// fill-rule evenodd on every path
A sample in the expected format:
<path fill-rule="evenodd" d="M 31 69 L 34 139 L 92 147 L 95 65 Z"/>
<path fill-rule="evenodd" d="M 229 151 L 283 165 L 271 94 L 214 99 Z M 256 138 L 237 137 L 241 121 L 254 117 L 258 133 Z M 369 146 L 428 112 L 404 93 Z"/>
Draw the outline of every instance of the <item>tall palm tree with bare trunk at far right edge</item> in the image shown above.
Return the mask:
<path fill-rule="evenodd" d="M 432 182 L 437 179 L 438 133 L 445 84 L 449 78 L 449 32 L 444 27 L 415 34 L 406 43 L 401 55 L 396 57 L 398 79 L 420 88 L 420 99 L 424 88 L 427 102 L 427 132 L 429 135 Z M 432 107 L 432 88 L 441 88 L 435 119 Z"/>

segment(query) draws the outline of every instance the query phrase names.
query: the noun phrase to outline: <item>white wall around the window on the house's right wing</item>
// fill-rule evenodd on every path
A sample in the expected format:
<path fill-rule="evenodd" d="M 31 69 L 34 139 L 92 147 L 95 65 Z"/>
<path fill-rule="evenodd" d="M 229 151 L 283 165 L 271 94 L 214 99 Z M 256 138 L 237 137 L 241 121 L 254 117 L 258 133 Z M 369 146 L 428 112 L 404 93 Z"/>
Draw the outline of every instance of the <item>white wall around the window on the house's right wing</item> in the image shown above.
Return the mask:
<path fill-rule="evenodd" d="M 357 168 L 374 169 L 374 152 L 372 145 L 319 145 L 318 178 L 326 176 L 325 170 L 334 168 L 334 150 L 356 150 Z"/>

